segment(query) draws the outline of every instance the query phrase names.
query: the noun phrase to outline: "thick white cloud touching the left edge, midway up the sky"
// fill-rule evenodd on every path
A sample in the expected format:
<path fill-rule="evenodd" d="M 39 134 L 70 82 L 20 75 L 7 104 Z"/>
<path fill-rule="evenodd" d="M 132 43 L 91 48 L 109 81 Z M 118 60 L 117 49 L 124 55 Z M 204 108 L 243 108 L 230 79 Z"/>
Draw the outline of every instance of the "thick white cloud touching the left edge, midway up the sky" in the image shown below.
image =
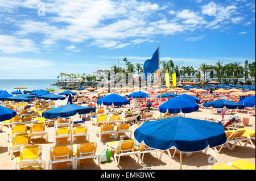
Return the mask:
<path fill-rule="evenodd" d="M 10 35 L 0 35 L 0 52 L 2 53 L 23 53 L 38 52 L 34 41 L 21 39 Z"/>

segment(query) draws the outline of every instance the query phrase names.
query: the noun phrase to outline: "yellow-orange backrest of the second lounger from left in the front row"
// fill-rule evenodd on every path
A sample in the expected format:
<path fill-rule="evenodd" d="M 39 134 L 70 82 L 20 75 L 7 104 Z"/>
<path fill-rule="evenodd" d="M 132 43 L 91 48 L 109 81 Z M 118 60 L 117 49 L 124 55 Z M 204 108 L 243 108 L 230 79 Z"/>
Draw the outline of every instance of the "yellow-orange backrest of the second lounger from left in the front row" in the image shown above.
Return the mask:
<path fill-rule="evenodd" d="M 50 149 L 50 159 L 69 159 L 72 157 L 72 147 L 71 145 L 66 146 L 53 146 Z"/>

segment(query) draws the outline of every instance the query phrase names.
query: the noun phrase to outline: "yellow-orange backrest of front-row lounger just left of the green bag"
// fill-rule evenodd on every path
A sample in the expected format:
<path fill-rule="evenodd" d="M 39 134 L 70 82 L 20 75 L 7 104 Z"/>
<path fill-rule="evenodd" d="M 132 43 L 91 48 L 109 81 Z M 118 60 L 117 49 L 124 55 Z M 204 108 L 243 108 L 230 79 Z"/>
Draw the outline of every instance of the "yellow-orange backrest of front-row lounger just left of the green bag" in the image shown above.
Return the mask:
<path fill-rule="evenodd" d="M 97 142 L 88 142 L 77 145 L 77 157 L 96 154 Z"/>

